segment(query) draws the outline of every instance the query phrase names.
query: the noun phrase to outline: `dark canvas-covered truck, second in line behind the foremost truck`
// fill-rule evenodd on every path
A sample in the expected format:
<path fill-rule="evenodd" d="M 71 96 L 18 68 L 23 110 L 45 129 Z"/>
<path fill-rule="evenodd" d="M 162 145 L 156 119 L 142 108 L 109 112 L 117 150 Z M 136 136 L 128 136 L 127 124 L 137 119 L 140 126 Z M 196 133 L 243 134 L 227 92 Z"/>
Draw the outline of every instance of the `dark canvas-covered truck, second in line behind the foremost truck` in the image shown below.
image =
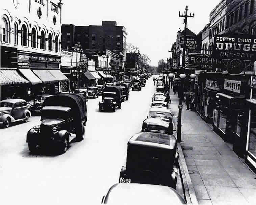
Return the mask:
<path fill-rule="evenodd" d="M 118 86 L 106 86 L 102 91 L 102 101 L 99 102 L 99 111 L 121 109 L 122 91 Z"/>

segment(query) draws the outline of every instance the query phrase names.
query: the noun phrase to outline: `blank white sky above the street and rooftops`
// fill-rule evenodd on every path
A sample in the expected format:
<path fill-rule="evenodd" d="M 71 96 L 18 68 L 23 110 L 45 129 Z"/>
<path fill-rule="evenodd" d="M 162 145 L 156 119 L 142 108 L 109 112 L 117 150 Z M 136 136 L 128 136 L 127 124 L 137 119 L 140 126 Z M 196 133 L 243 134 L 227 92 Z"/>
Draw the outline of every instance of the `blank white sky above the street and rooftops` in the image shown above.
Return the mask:
<path fill-rule="evenodd" d="M 77 26 L 101 25 L 101 21 L 116 21 L 127 30 L 126 43 L 139 47 L 140 53 L 157 66 L 170 58 L 172 43 L 179 28 L 184 30 L 185 6 L 194 18 L 188 18 L 187 28 L 198 34 L 209 23 L 210 12 L 221 0 L 62 0 L 62 24 Z"/>

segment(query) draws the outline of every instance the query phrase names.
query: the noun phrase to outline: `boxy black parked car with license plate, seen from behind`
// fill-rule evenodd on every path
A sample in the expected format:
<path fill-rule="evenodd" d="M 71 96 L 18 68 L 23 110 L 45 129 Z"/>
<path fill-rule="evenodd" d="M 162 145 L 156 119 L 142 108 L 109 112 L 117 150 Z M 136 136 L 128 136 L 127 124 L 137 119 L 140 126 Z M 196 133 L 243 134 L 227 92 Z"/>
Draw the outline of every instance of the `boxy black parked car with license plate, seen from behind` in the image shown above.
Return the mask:
<path fill-rule="evenodd" d="M 119 183 L 142 183 L 176 188 L 179 154 L 174 135 L 139 132 L 127 146 L 126 165 Z"/>

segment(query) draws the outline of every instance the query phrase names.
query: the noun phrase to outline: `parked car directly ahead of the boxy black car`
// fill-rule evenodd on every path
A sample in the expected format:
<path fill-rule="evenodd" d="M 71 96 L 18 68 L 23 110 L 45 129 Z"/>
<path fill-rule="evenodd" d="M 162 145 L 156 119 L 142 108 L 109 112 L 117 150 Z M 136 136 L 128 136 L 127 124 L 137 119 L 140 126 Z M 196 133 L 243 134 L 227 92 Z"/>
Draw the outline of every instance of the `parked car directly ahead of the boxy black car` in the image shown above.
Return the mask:
<path fill-rule="evenodd" d="M 160 118 L 147 118 L 142 123 L 142 132 L 156 132 L 173 135 L 173 122 Z"/>

